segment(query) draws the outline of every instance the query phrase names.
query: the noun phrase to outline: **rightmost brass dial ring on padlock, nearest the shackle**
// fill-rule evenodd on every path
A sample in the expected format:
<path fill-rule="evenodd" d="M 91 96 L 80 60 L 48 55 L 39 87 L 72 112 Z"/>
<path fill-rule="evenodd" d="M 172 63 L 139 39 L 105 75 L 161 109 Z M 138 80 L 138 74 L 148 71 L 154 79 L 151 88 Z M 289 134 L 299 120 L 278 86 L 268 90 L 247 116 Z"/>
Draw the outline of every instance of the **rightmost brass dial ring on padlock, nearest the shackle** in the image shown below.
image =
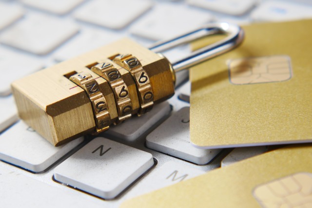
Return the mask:
<path fill-rule="evenodd" d="M 150 84 L 150 78 L 142 68 L 140 61 L 130 54 L 117 56 L 113 61 L 128 70 L 135 79 L 138 98 L 141 105 L 138 115 L 150 111 L 154 104 L 154 93 Z"/>

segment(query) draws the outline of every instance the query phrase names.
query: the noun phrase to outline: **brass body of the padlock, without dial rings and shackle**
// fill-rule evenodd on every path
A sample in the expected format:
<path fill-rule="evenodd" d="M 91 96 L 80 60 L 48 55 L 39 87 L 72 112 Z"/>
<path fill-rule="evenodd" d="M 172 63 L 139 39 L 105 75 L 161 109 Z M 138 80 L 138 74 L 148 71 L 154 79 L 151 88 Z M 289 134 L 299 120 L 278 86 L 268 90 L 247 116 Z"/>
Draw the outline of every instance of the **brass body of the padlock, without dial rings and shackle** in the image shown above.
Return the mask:
<path fill-rule="evenodd" d="M 114 122 L 118 112 L 112 88 L 104 78 L 93 73 L 90 66 L 118 54 L 132 54 L 140 60 L 150 79 L 154 103 L 174 95 L 174 76 L 168 60 L 124 38 L 13 82 L 12 92 L 20 118 L 55 146 L 94 132 L 96 123 L 90 99 L 81 87 L 69 80 L 71 75 L 87 72 L 97 80 Z M 135 81 L 129 73 L 121 71 L 131 91 L 135 114 L 139 108 Z"/>

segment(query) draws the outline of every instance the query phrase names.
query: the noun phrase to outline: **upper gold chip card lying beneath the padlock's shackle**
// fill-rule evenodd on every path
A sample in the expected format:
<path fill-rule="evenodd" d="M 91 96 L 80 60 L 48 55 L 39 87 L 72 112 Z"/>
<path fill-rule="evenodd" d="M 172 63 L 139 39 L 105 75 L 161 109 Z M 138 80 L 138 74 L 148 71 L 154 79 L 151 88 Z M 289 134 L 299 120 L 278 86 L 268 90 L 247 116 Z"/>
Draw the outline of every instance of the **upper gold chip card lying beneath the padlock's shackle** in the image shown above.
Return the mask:
<path fill-rule="evenodd" d="M 312 20 L 243 28 L 238 48 L 190 70 L 191 142 L 214 149 L 312 141 Z"/>

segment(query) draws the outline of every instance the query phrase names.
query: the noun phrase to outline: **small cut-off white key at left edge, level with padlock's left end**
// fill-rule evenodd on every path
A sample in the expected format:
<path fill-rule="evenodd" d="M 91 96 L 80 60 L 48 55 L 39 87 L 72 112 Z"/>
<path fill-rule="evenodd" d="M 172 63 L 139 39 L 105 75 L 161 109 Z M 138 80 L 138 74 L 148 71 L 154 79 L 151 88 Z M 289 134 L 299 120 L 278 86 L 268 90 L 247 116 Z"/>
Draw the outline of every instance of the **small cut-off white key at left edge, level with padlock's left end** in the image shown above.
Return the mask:
<path fill-rule="evenodd" d="M 0 97 L 0 132 L 19 119 L 13 96 Z"/>

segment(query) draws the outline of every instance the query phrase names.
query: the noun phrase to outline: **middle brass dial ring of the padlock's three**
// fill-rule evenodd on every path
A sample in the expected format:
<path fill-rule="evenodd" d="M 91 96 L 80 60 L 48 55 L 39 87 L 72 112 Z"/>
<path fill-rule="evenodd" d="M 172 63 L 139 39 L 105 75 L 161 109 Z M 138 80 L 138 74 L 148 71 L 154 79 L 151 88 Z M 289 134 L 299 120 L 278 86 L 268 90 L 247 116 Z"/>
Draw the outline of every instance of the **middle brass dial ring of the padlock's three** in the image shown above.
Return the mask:
<path fill-rule="evenodd" d="M 133 107 L 129 89 L 113 63 L 106 60 L 93 66 L 91 71 L 106 79 L 111 86 L 116 100 L 118 120 L 123 121 L 130 118 Z"/>

